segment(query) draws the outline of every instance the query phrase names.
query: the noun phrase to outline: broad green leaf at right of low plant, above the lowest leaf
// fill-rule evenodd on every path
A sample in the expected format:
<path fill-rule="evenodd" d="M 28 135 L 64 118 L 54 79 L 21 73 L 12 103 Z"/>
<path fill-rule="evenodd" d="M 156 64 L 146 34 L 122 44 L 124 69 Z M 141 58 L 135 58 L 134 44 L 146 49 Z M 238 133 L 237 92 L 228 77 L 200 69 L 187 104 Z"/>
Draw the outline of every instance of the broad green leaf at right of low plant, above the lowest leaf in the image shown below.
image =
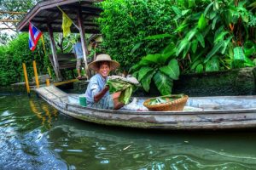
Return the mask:
<path fill-rule="evenodd" d="M 172 59 L 168 65 L 160 67 L 160 71 L 165 73 L 168 77 L 177 80 L 179 77 L 179 66 L 177 59 Z"/>

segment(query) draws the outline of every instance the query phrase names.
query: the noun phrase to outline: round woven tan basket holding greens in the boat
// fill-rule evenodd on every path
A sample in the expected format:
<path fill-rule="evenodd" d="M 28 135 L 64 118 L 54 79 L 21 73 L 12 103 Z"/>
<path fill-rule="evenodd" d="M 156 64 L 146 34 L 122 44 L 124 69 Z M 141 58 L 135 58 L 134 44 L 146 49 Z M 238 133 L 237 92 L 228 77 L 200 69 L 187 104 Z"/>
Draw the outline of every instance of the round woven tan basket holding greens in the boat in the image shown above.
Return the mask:
<path fill-rule="evenodd" d="M 167 96 L 161 96 L 164 97 L 172 97 L 177 95 L 167 95 Z M 151 98 L 155 99 L 155 98 Z M 159 104 L 159 105 L 148 105 L 151 99 L 147 99 L 144 101 L 143 105 L 148 108 L 149 111 L 183 111 L 184 106 L 187 103 L 187 100 L 189 99 L 189 96 L 183 95 L 182 98 L 172 100 L 170 102 Z"/>

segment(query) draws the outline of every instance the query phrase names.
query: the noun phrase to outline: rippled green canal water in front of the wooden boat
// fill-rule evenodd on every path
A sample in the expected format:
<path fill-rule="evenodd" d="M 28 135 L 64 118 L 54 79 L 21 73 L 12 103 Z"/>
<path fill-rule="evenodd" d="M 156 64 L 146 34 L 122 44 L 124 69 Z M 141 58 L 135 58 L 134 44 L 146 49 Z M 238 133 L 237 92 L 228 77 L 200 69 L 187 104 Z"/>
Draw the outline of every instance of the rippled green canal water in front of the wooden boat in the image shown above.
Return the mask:
<path fill-rule="evenodd" d="M 256 133 L 105 127 L 0 94 L 0 169 L 256 169 Z"/>

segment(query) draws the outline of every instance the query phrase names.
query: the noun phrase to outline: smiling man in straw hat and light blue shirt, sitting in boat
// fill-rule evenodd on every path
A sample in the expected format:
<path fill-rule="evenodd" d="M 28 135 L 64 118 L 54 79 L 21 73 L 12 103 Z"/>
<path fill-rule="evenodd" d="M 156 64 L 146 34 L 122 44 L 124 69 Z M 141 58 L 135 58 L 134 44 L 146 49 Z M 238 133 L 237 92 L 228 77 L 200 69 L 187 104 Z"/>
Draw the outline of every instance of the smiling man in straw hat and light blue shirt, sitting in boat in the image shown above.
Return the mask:
<path fill-rule="evenodd" d="M 110 58 L 108 54 L 99 54 L 96 60 L 88 67 L 97 74 L 90 78 L 85 92 L 87 106 L 98 109 L 118 110 L 124 104 L 119 102 L 120 93 L 109 94 L 109 87 L 106 86 L 108 74 L 119 67 L 119 63 Z"/>

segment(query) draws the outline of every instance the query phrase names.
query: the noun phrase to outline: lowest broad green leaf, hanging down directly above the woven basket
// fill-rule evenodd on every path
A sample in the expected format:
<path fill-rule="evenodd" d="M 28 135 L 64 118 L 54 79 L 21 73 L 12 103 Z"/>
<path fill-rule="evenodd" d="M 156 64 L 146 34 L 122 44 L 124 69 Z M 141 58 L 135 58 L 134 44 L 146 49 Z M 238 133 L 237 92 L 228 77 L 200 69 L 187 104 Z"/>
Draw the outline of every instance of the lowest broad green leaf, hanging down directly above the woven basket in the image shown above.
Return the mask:
<path fill-rule="evenodd" d="M 160 91 L 161 95 L 172 94 L 173 82 L 166 74 L 157 71 L 153 77 L 156 88 Z"/>

